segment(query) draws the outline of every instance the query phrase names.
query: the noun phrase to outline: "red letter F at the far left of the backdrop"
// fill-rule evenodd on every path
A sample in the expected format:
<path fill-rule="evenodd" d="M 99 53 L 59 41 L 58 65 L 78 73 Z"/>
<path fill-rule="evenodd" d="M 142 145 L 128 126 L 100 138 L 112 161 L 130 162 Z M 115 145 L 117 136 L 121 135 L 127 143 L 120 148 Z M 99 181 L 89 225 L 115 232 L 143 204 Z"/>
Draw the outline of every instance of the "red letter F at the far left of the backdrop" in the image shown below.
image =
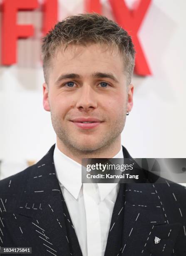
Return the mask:
<path fill-rule="evenodd" d="M 32 25 L 17 25 L 18 10 L 38 8 L 37 0 L 4 0 L 2 3 L 2 64 L 16 63 L 17 38 L 32 36 Z"/>

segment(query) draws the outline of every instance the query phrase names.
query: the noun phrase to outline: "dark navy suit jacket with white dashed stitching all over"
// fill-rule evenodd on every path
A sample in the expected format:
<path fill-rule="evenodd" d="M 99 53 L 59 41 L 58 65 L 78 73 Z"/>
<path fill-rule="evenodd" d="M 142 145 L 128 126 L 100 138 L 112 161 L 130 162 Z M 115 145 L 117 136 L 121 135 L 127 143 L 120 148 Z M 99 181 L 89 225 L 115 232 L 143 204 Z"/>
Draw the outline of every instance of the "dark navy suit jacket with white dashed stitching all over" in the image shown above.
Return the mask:
<path fill-rule="evenodd" d="M 56 177 L 54 148 L 0 181 L 0 246 L 32 247 L 36 256 L 82 256 Z M 124 147 L 123 154 L 131 157 Z M 185 187 L 120 184 L 105 256 L 120 255 L 186 256 Z"/>

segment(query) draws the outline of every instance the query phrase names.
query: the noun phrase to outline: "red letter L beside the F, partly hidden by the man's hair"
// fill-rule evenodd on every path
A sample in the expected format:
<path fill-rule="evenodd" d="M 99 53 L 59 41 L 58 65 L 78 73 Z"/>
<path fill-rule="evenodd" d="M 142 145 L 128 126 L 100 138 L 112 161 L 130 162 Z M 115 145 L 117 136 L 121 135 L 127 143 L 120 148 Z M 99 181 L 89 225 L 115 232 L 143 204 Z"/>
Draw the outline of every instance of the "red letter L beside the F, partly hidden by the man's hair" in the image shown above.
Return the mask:
<path fill-rule="evenodd" d="M 57 22 L 57 0 L 45 0 L 43 4 L 43 36 L 45 36 Z"/>

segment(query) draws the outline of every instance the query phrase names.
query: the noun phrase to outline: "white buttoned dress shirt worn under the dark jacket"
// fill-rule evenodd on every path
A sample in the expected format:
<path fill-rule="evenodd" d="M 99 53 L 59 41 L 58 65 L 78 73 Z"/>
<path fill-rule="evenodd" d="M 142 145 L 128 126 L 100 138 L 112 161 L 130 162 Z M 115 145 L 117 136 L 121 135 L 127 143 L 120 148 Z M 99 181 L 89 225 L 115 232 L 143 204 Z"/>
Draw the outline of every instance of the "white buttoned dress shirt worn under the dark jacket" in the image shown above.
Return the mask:
<path fill-rule="evenodd" d="M 114 158 L 123 158 L 121 149 Z M 104 256 L 117 183 L 82 184 L 82 166 L 55 146 L 54 164 L 83 256 Z"/>

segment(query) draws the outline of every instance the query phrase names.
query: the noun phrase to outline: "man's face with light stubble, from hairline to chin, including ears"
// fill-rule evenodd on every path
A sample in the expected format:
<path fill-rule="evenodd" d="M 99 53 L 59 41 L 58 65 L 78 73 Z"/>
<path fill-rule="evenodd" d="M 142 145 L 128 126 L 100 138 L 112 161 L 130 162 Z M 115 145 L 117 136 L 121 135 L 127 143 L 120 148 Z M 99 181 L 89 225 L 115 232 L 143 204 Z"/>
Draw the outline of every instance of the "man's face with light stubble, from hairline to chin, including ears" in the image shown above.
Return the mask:
<path fill-rule="evenodd" d="M 120 140 L 133 86 L 126 88 L 121 54 L 99 44 L 69 45 L 51 59 L 43 105 L 51 112 L 57 140 L 94 151 Z M 91 123 L 83 123 L 91 122 Z"/>

